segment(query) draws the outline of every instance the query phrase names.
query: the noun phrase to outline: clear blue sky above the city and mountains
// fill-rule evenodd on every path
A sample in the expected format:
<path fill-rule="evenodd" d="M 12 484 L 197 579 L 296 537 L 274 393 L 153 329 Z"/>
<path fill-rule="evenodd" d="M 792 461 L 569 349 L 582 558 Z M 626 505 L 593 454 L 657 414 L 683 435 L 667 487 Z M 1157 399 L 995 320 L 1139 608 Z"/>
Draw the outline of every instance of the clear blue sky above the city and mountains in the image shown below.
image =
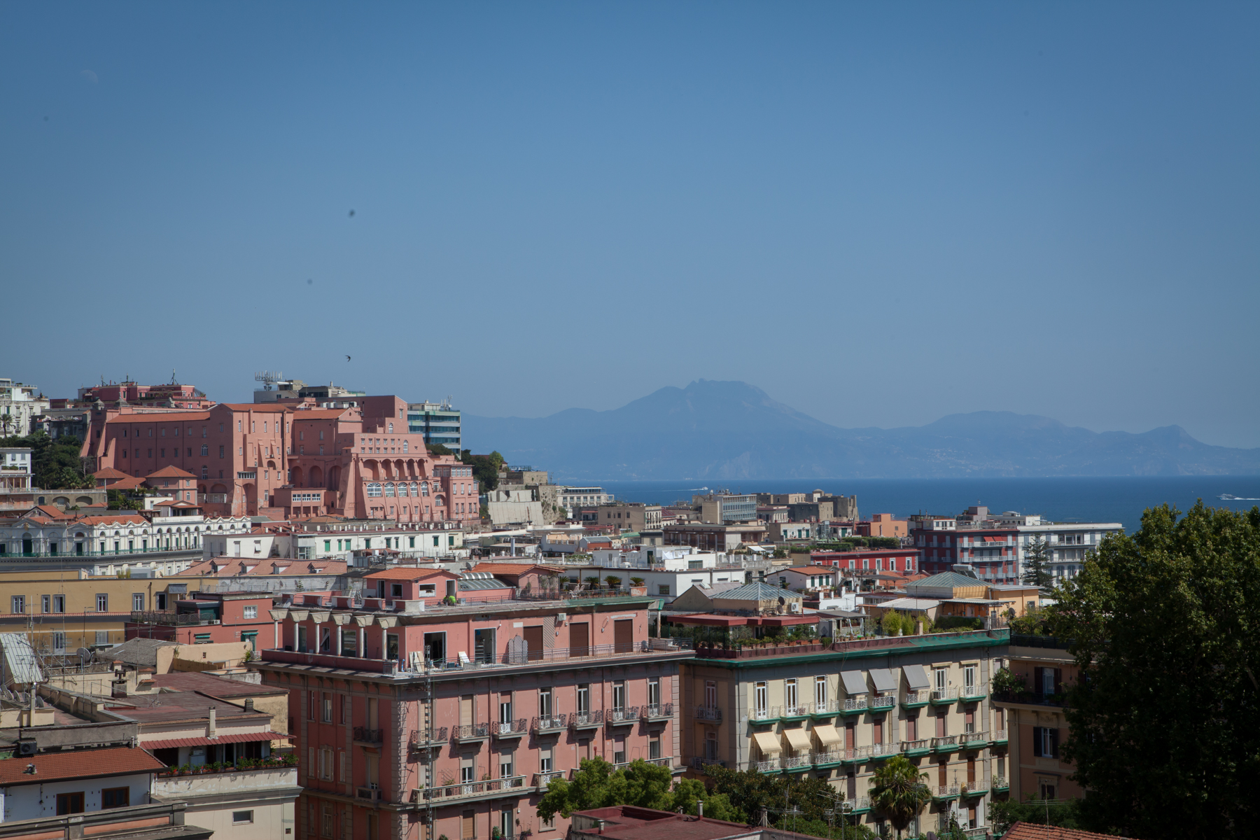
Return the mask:
<path fill-rule="evenodd" d="M 6 3 L 0 375 L 520 416 L 743 379 L 1260 446 L 1257 38 L 1255 3 Z"/>

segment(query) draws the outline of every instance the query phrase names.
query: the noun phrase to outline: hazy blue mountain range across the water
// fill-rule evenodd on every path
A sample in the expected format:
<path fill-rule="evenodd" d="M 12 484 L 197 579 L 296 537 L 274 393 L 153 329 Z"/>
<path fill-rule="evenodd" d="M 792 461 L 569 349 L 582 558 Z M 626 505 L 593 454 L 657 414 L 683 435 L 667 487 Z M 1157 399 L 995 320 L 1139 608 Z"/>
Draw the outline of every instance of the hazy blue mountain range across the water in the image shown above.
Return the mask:
<path fill-rule="evenodd" d="M 464 416 L 465 446 L 568 481 L 1256 475 L 1260 448 L 1201 443 L 1179 426 L 1091 432 L 1013 412 L 845 429 L 743 382 L 701 379 L 621 408 Z"/>

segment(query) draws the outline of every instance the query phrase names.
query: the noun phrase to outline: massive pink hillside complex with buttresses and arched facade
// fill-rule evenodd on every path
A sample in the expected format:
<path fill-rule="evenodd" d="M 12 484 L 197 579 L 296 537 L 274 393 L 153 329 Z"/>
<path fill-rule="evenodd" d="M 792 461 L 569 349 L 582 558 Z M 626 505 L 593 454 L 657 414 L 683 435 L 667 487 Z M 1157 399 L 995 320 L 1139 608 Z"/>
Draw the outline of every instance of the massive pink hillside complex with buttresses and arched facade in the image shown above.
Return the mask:
<path fill-rule="evenodd" d="M 408 432 L 404 400 L 362 403 L 219 403 L 198 412 L 98 403 L 82 455 L 97 471 L 188 472 L 208 515 L 478 521 L 472 467 L 428 455 L 423 436 Z"/>

